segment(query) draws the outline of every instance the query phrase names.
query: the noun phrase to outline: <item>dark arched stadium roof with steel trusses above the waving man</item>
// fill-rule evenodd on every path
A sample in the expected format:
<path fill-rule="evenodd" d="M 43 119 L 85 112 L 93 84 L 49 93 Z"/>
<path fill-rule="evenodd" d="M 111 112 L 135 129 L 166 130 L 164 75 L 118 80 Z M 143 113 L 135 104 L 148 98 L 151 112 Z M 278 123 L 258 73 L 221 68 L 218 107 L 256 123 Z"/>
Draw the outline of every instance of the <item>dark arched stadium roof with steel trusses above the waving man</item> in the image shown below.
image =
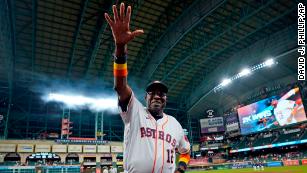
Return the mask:
<path fill-rule="evenodd" d="M 114 44 L 103 14 L 120 2 L 1 1 L 1 98 L 28 110 L 35 100 L 28 90 L 37 84 L 64 81 L 112 89 Z M 145 31 L 128 45 L 129 82 L 137 93 L 152 80 L 166 83 L 170 110 L 198 117 L 206 109 L 225 110 L 264 84 L 296 79 L 296 1 L 125 3 L 133 8 L 131 28 Z M 267 57 L 278 64 L 212 92 L 224 77 Z"/>

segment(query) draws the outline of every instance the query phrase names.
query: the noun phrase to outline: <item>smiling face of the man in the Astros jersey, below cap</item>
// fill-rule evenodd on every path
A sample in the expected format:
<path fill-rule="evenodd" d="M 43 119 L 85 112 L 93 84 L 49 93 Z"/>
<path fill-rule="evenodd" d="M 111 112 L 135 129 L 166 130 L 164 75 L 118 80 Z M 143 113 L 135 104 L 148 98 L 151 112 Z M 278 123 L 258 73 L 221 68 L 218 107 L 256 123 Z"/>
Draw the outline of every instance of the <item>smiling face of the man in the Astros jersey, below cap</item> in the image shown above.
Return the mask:
<path fill-rule="evenodd" d="M 166 93 L 159 89 L 154 89 L 147 92 L 146 96 L 147 108 L 153 112 L 160 112 L 165 108 L 166 105 Z"/>

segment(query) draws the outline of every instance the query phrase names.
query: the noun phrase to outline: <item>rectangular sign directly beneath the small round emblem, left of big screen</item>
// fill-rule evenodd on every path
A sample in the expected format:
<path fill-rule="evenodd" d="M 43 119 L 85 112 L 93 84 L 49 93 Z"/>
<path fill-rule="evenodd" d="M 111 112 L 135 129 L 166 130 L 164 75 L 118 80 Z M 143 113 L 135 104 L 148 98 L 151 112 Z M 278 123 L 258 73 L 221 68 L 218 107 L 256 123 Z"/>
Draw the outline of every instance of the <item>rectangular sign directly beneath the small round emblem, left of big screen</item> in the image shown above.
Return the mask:
<path fill-rule="evenodd" d="M 225 131 L 223 117 L 201 119 L 200 127 L 202 133 Z"/>

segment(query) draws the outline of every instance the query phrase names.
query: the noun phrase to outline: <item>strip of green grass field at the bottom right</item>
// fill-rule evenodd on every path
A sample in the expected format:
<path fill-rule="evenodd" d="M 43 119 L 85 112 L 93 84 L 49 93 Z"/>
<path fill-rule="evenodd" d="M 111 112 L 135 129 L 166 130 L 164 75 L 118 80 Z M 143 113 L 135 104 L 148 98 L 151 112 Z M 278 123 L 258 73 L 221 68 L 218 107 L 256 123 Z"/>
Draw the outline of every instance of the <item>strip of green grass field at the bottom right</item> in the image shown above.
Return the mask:
<path fill-rule="evenodd" d="M 247 169 L 228 169 L 228 170 L 212 170 L 212 171 L 187 171 L 188 173 L 307 173 L 307 165 L 304 166 L 283 166 L 283 167 L 265 167 L 264 171 L 253 168 Z"/>

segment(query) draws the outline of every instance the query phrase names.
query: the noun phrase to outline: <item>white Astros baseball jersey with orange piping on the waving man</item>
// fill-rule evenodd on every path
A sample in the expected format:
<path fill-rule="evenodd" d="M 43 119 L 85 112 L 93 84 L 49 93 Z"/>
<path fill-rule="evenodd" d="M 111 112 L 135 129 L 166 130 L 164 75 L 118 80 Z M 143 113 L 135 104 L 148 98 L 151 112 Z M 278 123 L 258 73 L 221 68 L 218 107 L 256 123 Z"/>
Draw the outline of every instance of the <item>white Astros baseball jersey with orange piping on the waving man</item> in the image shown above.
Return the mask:
<path fill-rule="evenodd" d="M 129 173 L 174 173 L 175 148 L 189 152 L 190 143 L 179 122 L 170 115 L 155 120 L 132 93 L 126 112 L 124 169 Z"/>

